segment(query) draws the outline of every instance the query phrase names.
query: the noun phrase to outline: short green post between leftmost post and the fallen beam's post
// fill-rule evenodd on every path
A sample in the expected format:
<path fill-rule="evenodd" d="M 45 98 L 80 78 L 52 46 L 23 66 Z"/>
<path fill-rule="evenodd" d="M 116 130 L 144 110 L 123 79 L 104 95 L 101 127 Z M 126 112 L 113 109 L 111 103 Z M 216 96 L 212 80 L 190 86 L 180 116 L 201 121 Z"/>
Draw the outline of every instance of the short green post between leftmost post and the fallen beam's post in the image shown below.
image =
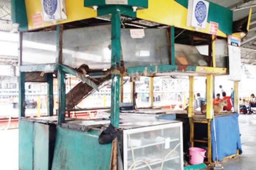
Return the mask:
<path fill-rule="evenodd" d="M 53 74 L 47 74 L 47 113 L 53 116 Z"/>

